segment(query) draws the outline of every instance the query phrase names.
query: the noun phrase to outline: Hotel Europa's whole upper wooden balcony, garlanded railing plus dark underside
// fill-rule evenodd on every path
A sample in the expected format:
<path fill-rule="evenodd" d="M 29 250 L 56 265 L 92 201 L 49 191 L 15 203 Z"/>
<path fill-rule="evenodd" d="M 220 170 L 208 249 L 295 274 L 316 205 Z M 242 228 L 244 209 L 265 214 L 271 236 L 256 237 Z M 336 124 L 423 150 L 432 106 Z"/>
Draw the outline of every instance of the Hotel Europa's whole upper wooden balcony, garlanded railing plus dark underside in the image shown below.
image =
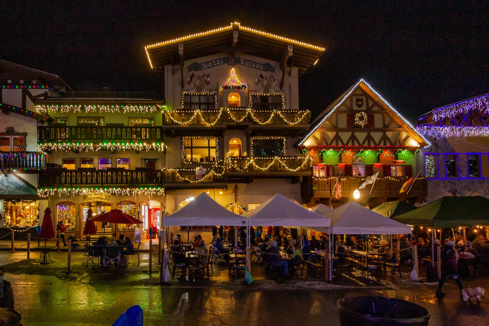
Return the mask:
<path fill-rule="evenodd" d="M 219 134 L 224 129 L 246 129 L 249 134 L 254 130 L 262 135 L 295 135 L 309 129 L 310 111 L 298 110 L 253 110 L 244 107 L 221 108 L 216 110 L 175 110 L 164 111 L 163 125 L 172 134 L 199 135 Z M 180 131 L 180 130 L 185 130 Z M 202 134 L 202 132 L 206 134 Z M 214 132 L 214 133 L 213 133 Z M 278 132 L 278 133 L 277 133 Z M 181 134 L 180 134 L 181 133 Z"/>

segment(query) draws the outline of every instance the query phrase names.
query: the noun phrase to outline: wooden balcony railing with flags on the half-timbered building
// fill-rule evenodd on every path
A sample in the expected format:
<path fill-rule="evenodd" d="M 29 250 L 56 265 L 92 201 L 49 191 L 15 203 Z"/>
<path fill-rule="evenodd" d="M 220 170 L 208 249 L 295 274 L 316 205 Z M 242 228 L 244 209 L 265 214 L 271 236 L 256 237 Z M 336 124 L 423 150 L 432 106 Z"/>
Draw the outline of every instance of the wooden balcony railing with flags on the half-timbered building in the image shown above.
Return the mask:
<path fill-rule="evenodd" d="M 365 178 L 357 177 L 342 177 L 341 178 L 341 197 L 353 197 L 353 192 L 358 189 L 360 198 L 365 197 L 405 197 L 406 193 L 399 193 L 402 185 L 409 177 L 378 177 L 375 181 L 372 193 L 370 190 L 372 185 L 367 185 L 363 189 L 358 189 L 358 186 L 365 181 Z M 336 195 L 336 190 L 333 192 L 334 184 L 337 177 L 313 177 L 312 189 L 313 198 L 332 198 Z M 409 197 L 427 196 L 426 178 L 417 178 L 413 186 L 409 190 Z"/>

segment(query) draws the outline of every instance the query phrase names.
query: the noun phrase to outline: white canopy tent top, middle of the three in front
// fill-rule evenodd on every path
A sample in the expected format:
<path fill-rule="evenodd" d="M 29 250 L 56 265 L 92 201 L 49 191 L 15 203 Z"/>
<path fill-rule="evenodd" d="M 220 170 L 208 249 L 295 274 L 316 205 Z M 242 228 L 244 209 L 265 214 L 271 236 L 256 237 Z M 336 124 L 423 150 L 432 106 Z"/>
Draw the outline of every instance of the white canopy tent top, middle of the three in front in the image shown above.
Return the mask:
<path fill-rule="evenodd" d="M 241 215 L 248 217 L 249 225 L 310 225 L 329 227 L 330 219 L 312 212 L 286 197 L 276 194 L 266 202 Z"/>

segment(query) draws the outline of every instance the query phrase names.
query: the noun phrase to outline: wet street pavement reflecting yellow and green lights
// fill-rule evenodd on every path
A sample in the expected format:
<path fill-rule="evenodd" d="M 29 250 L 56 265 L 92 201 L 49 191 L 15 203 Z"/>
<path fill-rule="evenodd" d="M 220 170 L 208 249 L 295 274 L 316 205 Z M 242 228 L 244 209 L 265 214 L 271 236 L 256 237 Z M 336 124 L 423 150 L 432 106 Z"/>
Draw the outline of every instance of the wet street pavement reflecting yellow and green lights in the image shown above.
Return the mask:
<path fill-rule="evenodd" d="M 156 272 L 147 273 L 147 255 L 141 255 L 140 266 L 92 269 L 82 253 L 74 253 L 69 274 L 67 253 L 52 253 L 54 262 L 48 265 L 36 264 L 39 254 L 32 254 L 36 260 L 31 261 L 25 261 L 25 256 L 25 252 L 0 252 L 0 265 L 6 270 L 5 280 L 13 284 L 16 310 L 24 326 L 110 326 L 134 304 L 144 310 L 144 325 L 339 325 L 336 301 L 355 295 L 420 304 L 431 314 L 429 325 L 488 325 L 489 296 L 480 304 L 463 303 L 451 281 L 445 284 L 447 296 L 438 300 L 435 283 L 411 283 L 407 273 L 403 279 L 391 279 L 389 274 L 388 282 L 372 286 L 308 279 L 277 283 L 260 278 L 260 267 L 253 265 L 257 281 L 247 285 L 243 279 L 228 281 L 223 266 L 222 272 L 214 268 L 216 277 L 211 281 L 180 280 L 160 286 L 156 263 Z M 464 283 L 489 290 L 487 276 Z"/>

